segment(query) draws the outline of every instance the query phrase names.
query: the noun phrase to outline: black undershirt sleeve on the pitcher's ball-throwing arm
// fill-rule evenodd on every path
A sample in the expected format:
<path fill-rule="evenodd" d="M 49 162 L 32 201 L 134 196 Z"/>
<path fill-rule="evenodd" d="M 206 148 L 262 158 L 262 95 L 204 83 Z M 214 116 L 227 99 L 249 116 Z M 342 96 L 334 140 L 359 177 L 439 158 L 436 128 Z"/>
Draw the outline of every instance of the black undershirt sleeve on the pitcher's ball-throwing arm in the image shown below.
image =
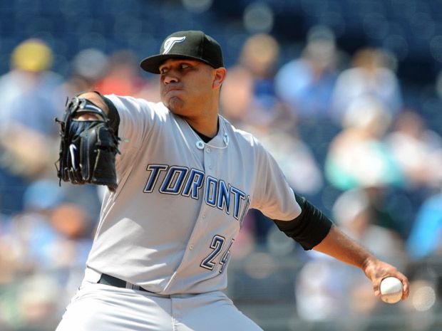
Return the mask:
<path fill-rule="evenodd" d="M 333 222 L 303 196 L 294 194 L 301 214 L 292 221 L 273 220 L 279 230 L 301 244 L 305 251 L 314 248 L 329 233 Z"/>

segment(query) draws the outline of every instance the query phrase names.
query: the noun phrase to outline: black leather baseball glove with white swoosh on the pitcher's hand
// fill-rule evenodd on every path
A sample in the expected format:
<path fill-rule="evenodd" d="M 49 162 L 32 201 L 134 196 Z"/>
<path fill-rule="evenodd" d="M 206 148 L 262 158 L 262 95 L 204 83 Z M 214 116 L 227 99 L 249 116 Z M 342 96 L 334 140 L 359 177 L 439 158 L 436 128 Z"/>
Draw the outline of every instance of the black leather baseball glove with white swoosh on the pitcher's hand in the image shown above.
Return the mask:
<path fill-rule="evenodd" d="M 81 113 L 92 113 L 100 120 L 76 120 Z M 107 185 L 115 191 L 115 154 L 119 153 L 120 139 L 106 113 L 91 101 L 74 97 L 66 105 L 63 121 L 55 120 L 61 127 L 60 157 L 56 161 L 60 183 Z"/>

